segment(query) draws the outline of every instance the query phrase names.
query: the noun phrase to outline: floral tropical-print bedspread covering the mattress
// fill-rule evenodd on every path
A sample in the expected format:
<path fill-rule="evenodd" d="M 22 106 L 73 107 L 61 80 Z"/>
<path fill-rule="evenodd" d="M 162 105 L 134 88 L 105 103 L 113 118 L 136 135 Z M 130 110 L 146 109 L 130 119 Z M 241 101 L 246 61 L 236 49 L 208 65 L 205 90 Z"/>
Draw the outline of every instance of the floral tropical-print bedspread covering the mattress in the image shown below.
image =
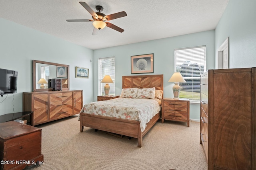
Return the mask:
<path fill-rule="evenodd" d="M 115 98 L 85 104 L 80 113 L 84 112 L 94 115 L 140 121 L 140 129 L 143 132 L 146 128 L 146 123 L 160 110 L 161 106 L 159 106 L 156 99 Z M 80 120 L 80 115 L 78 120 Z"/>

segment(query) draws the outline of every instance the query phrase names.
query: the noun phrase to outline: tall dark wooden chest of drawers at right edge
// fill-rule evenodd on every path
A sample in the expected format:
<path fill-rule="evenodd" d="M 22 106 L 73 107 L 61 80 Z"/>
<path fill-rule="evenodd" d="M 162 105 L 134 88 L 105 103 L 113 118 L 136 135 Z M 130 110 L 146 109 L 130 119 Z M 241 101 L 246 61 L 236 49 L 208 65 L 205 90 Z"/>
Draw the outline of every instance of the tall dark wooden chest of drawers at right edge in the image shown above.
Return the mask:
<path fill-rule="evenodd" d="M 201 75 L 200 139 L 209 170 L 256 169 L 256 68 Z"/>

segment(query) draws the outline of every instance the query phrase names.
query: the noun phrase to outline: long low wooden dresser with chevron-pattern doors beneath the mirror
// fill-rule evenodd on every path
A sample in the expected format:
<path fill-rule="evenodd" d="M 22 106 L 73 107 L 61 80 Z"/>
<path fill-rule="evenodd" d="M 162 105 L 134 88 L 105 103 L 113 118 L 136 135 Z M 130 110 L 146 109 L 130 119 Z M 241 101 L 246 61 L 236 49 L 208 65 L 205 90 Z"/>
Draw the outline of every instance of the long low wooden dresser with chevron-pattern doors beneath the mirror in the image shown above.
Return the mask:
<path fill-rule="evenodd" d="M 83 90 L 23 92 L 23 110 L 33 111 L 32 126 L 78 114 Z"/>

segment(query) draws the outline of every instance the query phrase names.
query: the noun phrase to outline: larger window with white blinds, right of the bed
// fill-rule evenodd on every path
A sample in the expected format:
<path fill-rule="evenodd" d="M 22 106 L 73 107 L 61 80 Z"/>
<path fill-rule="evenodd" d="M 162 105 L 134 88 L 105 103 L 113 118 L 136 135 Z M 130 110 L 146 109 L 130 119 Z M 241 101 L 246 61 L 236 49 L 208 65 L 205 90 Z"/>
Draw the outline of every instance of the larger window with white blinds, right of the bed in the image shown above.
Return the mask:
<path fill-rule="evenodd" d="M 200 101 L 200 75 L 206 71 L 206 46 L 174 50 L 175 72 L 180 72 L 186 83 L 180 83 L 180 98 Z"/>

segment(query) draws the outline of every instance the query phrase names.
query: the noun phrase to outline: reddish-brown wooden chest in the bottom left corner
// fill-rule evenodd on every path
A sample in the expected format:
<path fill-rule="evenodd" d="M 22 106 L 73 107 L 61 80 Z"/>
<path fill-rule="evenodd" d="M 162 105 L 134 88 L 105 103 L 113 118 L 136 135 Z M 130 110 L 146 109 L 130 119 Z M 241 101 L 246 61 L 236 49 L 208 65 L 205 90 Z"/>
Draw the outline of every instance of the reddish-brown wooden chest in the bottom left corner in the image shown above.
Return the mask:
<path fill-rule="evenodd" d="M 22 170 L 26 165 L 43 164 L 42 129 L 8 121 L 0 123 L 0 170 Z"/>

